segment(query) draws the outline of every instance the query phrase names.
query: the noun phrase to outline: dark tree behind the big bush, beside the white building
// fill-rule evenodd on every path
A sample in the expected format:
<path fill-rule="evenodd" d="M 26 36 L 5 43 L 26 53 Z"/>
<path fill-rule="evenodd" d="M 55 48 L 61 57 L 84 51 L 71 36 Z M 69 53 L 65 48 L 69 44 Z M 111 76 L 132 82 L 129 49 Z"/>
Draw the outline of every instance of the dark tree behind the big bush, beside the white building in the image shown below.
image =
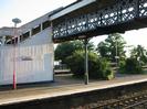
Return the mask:
<path fill-rule="evenodd" d="M 55 59 L 61 59 L 63 63 L 65 63 L 66 57 L 71 56 L 75 51 L 82 51 L 84 50 L 84 44 L 82 41 L 71 41 L 61 43 L 55 48 Z M 88 43 L 88 51 L 94 50 L 94 44 Z"/>

